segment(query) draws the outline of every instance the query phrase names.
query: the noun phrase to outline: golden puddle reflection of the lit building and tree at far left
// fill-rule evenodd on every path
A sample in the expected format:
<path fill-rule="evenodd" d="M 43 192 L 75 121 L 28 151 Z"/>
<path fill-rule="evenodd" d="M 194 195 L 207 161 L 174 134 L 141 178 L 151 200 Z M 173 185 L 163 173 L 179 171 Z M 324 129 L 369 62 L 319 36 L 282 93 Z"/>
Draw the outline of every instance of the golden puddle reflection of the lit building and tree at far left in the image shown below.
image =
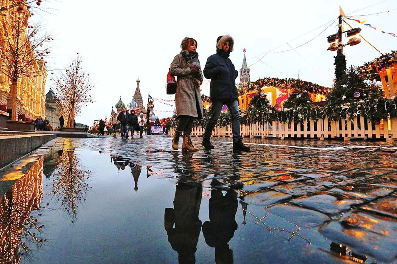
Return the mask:
<path fill-rule="evenodd" d="M 30 244 L 40 246 L 46 240 L 41 237 L 44 225 L 30 215 L 40 210 L 42 173 L 43 157 L 0 197 L 0 263 L 19 263 Z"/>

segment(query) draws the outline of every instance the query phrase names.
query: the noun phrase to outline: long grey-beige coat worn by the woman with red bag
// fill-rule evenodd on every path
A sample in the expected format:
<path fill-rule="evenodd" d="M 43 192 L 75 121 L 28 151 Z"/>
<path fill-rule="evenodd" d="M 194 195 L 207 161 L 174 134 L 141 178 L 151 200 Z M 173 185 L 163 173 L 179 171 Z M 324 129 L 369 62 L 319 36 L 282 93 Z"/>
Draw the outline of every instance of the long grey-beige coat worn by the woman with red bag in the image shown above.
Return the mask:
<path fill-rule="evenodd" d="M 198 65 L 200 66 L 200 65 Z M 177 116 L 189 115 L 202 119 L 202 101 L 198 81 L 202 82 L 201 67 L 200 79 L 191 75 L 190 68 L 181 54 L 175 56 L 171 63 L 171 75 L 177 76 L 177 88 L 175 93 L 175 105 Z"/>

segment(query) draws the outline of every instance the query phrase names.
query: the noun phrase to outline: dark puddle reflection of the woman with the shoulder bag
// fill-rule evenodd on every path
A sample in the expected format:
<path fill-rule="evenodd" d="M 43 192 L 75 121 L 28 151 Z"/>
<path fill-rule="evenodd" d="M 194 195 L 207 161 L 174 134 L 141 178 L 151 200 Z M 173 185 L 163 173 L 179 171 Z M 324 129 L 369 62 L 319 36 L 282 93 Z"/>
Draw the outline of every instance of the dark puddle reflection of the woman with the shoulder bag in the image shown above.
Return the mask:
<path fill-rule="evenodd" d="M 164 228 L 168 242 L 178 253 L 179 263 L 195 263 L 201 221 L 198 219 L 202 187 L 178 184 L 175 189 L 174 208 L 166 208 Z M 175 228 L 173 228 L 175 223 Z"/>

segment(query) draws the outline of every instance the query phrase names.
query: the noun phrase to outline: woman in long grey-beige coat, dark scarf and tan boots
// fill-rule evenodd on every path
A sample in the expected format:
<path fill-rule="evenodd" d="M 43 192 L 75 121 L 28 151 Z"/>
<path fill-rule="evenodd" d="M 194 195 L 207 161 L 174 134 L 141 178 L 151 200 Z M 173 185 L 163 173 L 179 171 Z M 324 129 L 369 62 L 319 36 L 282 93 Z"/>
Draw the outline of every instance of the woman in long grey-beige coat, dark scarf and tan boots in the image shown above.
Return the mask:
<path fill-rule="evenodd" d="M 194 119 L 202 119 L 202 101 L 200 85 L 202 71 L 198 54 L 197 41 L 194 38 L 184 38 L 181 43 L 182 51 L 175 56 L 171 63 L 171 75 L 177 76 L 175 104 L 177 112 L 177 128 L 172 139 L 172 148 L 178 149 L 179 137 L 183 132 L 183 151 L 196 151 L 191 141 Z"/>

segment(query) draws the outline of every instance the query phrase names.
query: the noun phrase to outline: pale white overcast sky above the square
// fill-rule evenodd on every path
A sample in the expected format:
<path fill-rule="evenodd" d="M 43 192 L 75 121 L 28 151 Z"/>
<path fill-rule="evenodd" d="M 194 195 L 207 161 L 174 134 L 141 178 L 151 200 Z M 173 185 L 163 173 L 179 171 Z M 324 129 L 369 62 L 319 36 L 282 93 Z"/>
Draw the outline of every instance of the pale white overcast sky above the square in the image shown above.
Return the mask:
<path fill-rule="evenodd" d="M 42 6 L 46 4 L 46 1 L 42 2 Z M 235 40 L 231 61 L 239 70 L 243 61 L 242 50 L 247 49 L 251 80 L 259 77 L 297 78 L 300 70 L 302 80 L 331 87 L 336 52 L 327 51 L 326 36 L 337 31 L 339 5 L 351 15 L 397 8 L 395 0 L 56 0 L 50 5 L 54 8 L 53 14 L 38 15 L 44 19 L 45 30 L 54 32 L 49 69 L 62 68 L 76 52 L 83 57 L 83 68 L 90 72 L 91 82 L 96 84 L 95 102 L 83 108 L 76 122 L 92 125 L 94 119 L 109 117 L 120 96 L 125 104 L 131 101 L 137 77 L 141 80 L 145 107 L 148 94 L 173 100 L 174 96 L 166 95 L 166 75 L 185 36 L 197 40 L 202 68 L 207 57 L 216 52 L 216 38 L 230 34 Z M 360 10 L 362 8 L 365 9 Z M 396 15 L 397 10 L 393 10 L 354 18 L 367 20 L 366 23 L 397 34 Z M 320 34 L 332 21 L 335 23 Z M 360 26 L 354 21 L 349 23 L 352 27 Z M 381 52 L 397 50 L 397 37 L 365 25 L 360 27 L 362 35 Z M 295 48 L 312 38 L 314 40 L 296 50 L 268 53 L 262 59 L 264 63 L 255 58 L 269 50 L 291 49 L 287 42 Z M 347 65 L 361 65 L 380 55 L 364 41 L 346 47 L 344 52 Z M 48 76 L 50 79 L 51 75 Z M 202 93 L 209 95 L 209 84 L 202 85 Z M 173 111 L 173 107 L 155 101 L 154 113 L 158 117 L 172 115 L 160 111 Z"/>

